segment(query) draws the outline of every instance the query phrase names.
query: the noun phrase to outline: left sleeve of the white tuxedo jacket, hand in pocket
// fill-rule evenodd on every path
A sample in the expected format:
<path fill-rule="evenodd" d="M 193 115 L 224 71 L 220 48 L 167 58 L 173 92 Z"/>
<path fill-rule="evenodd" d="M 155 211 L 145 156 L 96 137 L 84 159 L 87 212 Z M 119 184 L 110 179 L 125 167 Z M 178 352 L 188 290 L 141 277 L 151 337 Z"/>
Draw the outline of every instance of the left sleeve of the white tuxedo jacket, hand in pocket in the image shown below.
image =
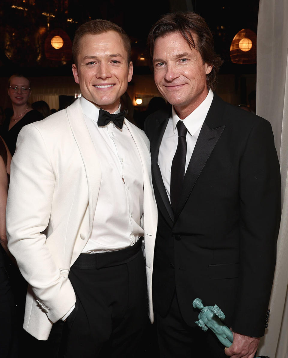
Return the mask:
<path fill-rule="evenodd" d="M 56 178 L 41 133 L 33 124 L 23 127 L 11 163 L 8 247 L 52 322 L 63 317 L 76 301 L 73 287 L 67 277 L 60 276 L 43 234 L 49 220 L 53 226 L 50 213 Z"/>

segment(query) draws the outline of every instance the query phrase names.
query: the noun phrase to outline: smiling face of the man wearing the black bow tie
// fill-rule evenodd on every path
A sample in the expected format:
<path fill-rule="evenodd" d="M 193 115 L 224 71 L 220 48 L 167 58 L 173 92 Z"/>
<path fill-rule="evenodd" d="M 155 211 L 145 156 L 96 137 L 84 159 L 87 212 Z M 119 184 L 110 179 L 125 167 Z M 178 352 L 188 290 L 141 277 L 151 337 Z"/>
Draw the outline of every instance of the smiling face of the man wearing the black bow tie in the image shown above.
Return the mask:
<path fill-rule="evenodd" d="M 117 32 L 86 34 L 81 39 L 77 66 L 72 65 L 82 96 L 110 113 L 119 107 L 120 97 L 132 79 L 132 62 Z"/>

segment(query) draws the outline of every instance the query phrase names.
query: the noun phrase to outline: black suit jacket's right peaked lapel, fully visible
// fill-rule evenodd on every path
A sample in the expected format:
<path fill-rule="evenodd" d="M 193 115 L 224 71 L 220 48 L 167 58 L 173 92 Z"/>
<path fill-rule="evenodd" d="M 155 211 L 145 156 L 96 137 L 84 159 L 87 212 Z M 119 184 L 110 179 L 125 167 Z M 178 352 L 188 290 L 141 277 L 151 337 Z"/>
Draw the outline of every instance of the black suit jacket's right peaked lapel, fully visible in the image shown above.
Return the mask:
<path fill-rule="evenodd" d="M 174 222 L 179 217 L 184 205 L 186 204 L 202 170 L 205 167 L 216 143 L 225 129 L 223 125 L 224 102 L 215 95 L 202 125 L 194 151 L 192 153 L 188 168 L 185 173 L 183 189 L 179 200 L 179 205 L 175 212 Z"/>

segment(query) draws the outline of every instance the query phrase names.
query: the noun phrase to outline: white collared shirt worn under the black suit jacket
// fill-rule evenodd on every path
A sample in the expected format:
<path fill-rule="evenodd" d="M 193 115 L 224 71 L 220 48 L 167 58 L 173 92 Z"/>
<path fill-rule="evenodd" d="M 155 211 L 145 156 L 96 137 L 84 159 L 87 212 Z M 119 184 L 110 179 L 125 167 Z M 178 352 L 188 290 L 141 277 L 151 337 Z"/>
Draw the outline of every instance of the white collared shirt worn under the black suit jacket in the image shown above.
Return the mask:
<path fill-rule="evenodd" d="M 206 96 L 205 100 L 183 120 L 183 123 L 187 128 L 187 135 L 186 135 L 187 152 L 186 152 L 185 173 L 191 155 L 195 148 L 200 130 L 202 128 L 204 120 L 211 106 L 213 96 L 214 96 L 213 92 L 211 91 L 210 88 L 209 93 Z M 159 154 L 158 154 L 158 165 L 162 174 L 163 183 L 169 200 L 170 200 L 171 165 L 178 144 L 178 131 L 176 130 L 176 125 L 178 121 L 180 121 L 180 118 L 177 116 L 174 107 L 172 106 L 172 116 L 168 120 L 167 127 L 163 134 L 162 141 L 159 147 Z"/>

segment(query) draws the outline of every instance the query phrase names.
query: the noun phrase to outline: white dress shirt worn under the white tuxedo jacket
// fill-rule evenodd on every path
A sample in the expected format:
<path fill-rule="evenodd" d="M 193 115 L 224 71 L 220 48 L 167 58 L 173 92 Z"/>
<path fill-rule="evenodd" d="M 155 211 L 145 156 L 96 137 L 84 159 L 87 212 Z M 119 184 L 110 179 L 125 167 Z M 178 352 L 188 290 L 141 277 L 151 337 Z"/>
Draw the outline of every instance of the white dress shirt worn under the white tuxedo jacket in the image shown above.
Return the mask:
<path fill-rule="evenodd" d="M 82 253 L 121 250 L 144 236 L 141 158 L 125 121 L 122 130 L 113 122 L 98 127 L 99 107 L 84 97 L 80 105 L 102 172 L 92 233 Z M 120 106 L 114 113 L 119 112 Z"/>

